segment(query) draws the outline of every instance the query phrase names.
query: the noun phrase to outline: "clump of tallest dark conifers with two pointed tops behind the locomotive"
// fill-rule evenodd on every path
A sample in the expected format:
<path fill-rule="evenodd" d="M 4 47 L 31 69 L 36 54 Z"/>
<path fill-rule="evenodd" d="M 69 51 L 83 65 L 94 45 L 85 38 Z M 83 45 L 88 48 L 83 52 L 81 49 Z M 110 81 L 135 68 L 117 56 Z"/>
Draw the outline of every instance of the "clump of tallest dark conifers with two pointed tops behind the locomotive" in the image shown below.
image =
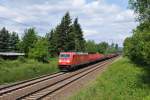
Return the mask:
<path fill-rule="evenodd" d="M 78 19 L 76 18 L 72 24 L 69 12 L 63 16 L 61 23 L 47 34 L 47 37 L 51 54 L 85 50 L 85 40 Z"/>

